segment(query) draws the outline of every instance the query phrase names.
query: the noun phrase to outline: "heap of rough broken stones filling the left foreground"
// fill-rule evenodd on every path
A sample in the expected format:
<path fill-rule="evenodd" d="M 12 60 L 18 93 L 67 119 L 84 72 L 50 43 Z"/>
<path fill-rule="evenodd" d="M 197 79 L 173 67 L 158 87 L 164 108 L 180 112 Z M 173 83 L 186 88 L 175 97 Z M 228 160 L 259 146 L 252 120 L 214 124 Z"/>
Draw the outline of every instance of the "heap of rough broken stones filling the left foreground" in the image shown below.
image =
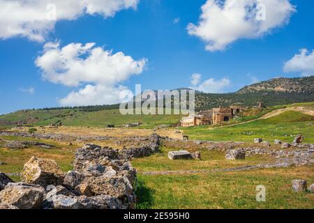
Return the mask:
<path fill-rule="evenodd" d="M 149 145 L 117 150 L 87 144 L 75 153 L 74 169 L 64 174 L 54 160 L 31 157 L 22 182 L 0 174 L 0 209 L 125 209 L 135 208 L 136 170 L 129 160 L 157 153 L 160 137 Z"/>

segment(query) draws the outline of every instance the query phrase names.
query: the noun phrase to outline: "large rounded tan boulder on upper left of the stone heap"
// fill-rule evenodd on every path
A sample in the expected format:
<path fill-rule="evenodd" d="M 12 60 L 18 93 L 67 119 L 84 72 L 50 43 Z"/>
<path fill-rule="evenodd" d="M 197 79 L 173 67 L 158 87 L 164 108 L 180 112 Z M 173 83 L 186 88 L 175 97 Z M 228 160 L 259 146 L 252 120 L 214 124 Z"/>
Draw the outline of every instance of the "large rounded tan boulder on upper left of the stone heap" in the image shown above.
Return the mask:
<path fill-rule="evenodd" d="M 31 157 L 24 164 L 21 179 L 26 183 L 33 183 L 47 187 L 47 185 L 61 185 L 63 183 L 63 172 L 54 160 Z"/>

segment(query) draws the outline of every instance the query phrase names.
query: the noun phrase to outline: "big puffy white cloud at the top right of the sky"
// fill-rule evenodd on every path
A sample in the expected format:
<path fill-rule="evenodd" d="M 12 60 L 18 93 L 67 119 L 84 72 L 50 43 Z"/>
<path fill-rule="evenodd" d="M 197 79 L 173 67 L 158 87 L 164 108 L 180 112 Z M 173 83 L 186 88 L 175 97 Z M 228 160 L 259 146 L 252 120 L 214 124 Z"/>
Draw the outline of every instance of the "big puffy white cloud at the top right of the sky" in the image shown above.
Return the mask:
<path fill-rule="evenodd" d="M 257 20 L 263 9 L 265 20 Z M 188 33 L 204 40 L 206 49 L 214 52 L 241 38 L 264 36 L 287 24 L 295 11 L 290 0 L 207 0 L 199 24 L 189 24 Z"/>

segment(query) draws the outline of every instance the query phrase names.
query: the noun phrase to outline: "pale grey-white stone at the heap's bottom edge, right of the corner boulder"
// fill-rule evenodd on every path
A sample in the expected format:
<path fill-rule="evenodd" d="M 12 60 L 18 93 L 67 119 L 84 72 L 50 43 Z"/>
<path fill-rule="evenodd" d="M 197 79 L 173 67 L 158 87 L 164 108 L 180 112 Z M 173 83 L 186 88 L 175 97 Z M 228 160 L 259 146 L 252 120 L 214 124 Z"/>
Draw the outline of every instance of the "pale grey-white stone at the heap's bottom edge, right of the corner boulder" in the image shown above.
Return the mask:
<path fill-rule="evenodd" d="M 51 201 L 45 203 L 45 208 L 53 209 L 78 209 L 80 203 L 76 197 L 67 197 L 63 194 L 58 194 L 52 197 Z"/>

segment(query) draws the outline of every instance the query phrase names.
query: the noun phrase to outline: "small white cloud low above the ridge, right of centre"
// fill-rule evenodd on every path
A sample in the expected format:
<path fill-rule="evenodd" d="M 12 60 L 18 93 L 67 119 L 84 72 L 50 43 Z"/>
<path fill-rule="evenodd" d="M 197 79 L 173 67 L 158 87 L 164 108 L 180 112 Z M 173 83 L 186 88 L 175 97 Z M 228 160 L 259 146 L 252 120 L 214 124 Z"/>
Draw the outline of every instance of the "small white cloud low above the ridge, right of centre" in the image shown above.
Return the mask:
<path fill-rule="evenodd" d="M 190 89 L 195 89 L 204 93 L 223 93 L 225 92 L 225 89 L 231 84 L 230 79 L 227 78 L 217 80 L 210 78 L 201 83 L 201 77 L 202 76 L 200 74 L 192 75 L 190 81 L 192 86 L 190 86 Z"/>

